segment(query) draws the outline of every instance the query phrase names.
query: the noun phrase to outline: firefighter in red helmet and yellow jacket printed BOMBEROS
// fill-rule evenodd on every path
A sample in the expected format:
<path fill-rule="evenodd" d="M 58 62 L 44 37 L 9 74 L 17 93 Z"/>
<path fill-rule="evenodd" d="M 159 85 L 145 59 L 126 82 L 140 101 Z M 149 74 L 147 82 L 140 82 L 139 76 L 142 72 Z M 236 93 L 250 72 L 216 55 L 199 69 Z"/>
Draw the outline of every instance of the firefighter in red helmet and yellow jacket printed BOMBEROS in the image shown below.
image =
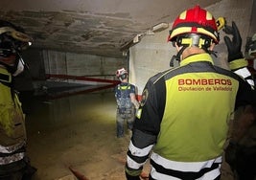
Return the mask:
<path fill-rule="evenodd" d="M 180 67 L 158 73 L 144 88 L 126 177 L 139 180 L 151 155 L 150 179 L 220 179 L 228 122 L 236 108 L 255 101 L 253 91 L 240 76 L 214 65 L 210 54 L 220 36 L 209 11 L 183 11 L 169 41 Z"/>

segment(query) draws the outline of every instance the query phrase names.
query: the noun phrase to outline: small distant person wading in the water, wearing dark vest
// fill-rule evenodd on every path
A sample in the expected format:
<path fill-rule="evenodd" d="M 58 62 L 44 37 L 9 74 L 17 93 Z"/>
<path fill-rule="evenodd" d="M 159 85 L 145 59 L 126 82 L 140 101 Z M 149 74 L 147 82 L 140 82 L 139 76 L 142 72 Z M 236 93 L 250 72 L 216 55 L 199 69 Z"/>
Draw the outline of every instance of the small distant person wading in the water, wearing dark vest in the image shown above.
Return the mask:
<path fill-rule="evenodd" d="M 135 119 L 135 109 L 139 107 L 136 100 L 135 86 L 128 83 L 128 71 L 125 68 L 116 72 L 116 77 L 121 81 L 115 87 L 115 98 L 117 101 L 116 112 L 116 135 L 118 138 L 124 137 L 124 124 L 128 124 L 128 131 L 131 132 Z"/>

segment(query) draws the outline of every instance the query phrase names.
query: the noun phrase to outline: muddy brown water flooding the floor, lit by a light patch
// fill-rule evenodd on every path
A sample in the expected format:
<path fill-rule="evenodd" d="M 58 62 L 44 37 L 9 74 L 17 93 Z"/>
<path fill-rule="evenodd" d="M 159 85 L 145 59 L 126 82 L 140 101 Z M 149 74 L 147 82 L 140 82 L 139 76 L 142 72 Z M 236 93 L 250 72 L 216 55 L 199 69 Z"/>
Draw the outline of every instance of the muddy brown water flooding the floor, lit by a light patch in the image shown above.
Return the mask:
<path fill-rule="evenodd" d="M 70 179 L 70 166 L 90 180 L 125 179 L 129 137 L 115 137 L 112 92 L 37 100 L 32 106 L 26 123 L 35 180 Z"/>

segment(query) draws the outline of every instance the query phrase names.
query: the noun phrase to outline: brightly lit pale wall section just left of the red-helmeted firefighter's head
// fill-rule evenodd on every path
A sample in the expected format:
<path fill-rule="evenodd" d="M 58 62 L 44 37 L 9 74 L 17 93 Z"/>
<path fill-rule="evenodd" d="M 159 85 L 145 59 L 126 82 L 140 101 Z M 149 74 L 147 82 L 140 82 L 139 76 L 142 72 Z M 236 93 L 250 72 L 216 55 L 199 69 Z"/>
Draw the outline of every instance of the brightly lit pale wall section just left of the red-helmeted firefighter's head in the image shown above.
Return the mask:
<path fill-rule="evenodd" d="M 138 44 L 129 49 L 129 81 L 137 86 L 139 95 L 152 75 L 170 67 L 170 59 L 175 54 L 175 49 L 167 42 L 168 34 L 167 29 L 145 35 Z"/>

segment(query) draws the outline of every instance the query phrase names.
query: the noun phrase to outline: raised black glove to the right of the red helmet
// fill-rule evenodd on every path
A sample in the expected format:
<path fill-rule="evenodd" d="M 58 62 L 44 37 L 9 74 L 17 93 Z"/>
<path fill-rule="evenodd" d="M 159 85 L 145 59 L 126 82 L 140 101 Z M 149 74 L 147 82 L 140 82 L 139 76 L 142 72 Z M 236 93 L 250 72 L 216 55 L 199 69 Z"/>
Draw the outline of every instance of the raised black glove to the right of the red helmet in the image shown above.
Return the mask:
<path fill-rule="evenodd" d="M 228 52 L 228 56 L 227 56 L 228 62 L 231 62 L 239 58 L 243 58 L 244 56 L 241 51 L 242 38 L 236 23 L 232 21 L 232 27 L 225 25 L 223 28 L 223 32 L 225 34 L 232 35 L 232 40 L 230 39 L 229 36 L 227 35 L 224 36 L 224 41 L 225 41 L 227 52 Z"/>

